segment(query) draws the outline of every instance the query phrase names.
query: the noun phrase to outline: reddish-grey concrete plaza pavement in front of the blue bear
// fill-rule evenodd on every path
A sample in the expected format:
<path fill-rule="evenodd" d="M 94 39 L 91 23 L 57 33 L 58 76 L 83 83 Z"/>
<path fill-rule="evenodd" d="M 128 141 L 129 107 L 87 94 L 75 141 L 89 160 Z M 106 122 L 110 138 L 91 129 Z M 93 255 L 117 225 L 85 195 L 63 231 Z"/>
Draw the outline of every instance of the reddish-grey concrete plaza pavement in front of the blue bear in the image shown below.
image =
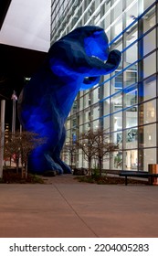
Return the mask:
<path fill-rule="evenodd" d="M 158 238 L 158 187 L 0 184 L 0 238 Z"/>

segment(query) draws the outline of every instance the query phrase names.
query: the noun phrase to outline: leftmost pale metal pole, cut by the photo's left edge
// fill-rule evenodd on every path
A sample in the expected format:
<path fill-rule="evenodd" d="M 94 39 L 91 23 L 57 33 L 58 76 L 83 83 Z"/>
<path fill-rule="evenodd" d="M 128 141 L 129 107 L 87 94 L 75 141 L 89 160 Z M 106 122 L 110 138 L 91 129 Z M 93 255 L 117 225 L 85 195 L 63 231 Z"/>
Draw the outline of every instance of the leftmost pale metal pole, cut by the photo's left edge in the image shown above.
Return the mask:
<path fill-rule="evenodd" d="M 3 177 L 4 165 L 4 143 L 5 143 L 5 100 L 1 101 L 1 123 L 0 123 L 0 178 Z"/>

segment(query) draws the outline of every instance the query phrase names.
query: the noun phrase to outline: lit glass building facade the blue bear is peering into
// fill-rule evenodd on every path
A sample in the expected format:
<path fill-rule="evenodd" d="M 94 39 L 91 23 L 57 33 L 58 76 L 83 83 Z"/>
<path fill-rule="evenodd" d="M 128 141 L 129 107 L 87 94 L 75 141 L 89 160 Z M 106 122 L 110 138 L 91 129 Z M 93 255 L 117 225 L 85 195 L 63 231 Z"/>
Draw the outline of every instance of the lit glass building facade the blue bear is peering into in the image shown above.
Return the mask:
<path fill-rule="evenodd" d="M 53 0 L 51 8 L 51 44 L 76 27 L 97 25 L 110 48 L 122 53 L 118 69 L 79 91 L 66 123 L 67 143 L 101 127 L 119 144 L 104 169 L 148 171 L 158 162 L 158 1 Z M 63 160 L 70 165 L 68 154 Z M 81 152 L 73 162 L 87 166 Z"/>

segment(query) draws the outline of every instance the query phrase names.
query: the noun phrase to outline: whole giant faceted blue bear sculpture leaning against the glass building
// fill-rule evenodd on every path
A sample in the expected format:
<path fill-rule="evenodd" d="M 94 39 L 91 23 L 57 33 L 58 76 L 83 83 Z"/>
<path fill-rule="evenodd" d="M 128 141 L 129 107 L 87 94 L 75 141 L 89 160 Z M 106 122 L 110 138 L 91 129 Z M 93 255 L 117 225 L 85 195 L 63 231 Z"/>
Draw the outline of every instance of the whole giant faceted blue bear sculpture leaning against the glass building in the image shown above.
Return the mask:
<path fill-rule="evenodd" d="M 61 161 L 60 152 L 73 101 L 80 90 L 90 89 L 101 75 L 117 69 L 120 61 L 120 51 L 110 52 L 108 37 L 101 27 L 78 27 L 52 45 L 45 63 L 26 84 L 18 101 L 23 128 L 47 137 L 47 143 L 29 157 L 32 172 L 71 173 Z"/>

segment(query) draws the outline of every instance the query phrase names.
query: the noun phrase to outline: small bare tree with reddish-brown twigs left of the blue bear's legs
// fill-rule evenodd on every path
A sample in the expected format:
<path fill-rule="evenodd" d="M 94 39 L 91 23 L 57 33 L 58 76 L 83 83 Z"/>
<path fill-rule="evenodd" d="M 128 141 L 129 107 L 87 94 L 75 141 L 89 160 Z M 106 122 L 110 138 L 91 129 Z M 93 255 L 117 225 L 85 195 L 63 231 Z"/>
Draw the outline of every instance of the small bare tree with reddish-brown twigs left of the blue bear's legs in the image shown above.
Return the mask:
<path fill-rule="evenodd" d="M 46 143 L 46 138 L 40 138 L 37 133 L 32 132 L 16 132 L 8 133 L 5 141 L 5 157 L 12 157 L 15 155 L 16 172 L 19 169 L 19 159 L 22 163 L 22 176 L 24 174 L 24 167 L 27 176 L 27 159 L 28 155 L 37 146 Z"/>

